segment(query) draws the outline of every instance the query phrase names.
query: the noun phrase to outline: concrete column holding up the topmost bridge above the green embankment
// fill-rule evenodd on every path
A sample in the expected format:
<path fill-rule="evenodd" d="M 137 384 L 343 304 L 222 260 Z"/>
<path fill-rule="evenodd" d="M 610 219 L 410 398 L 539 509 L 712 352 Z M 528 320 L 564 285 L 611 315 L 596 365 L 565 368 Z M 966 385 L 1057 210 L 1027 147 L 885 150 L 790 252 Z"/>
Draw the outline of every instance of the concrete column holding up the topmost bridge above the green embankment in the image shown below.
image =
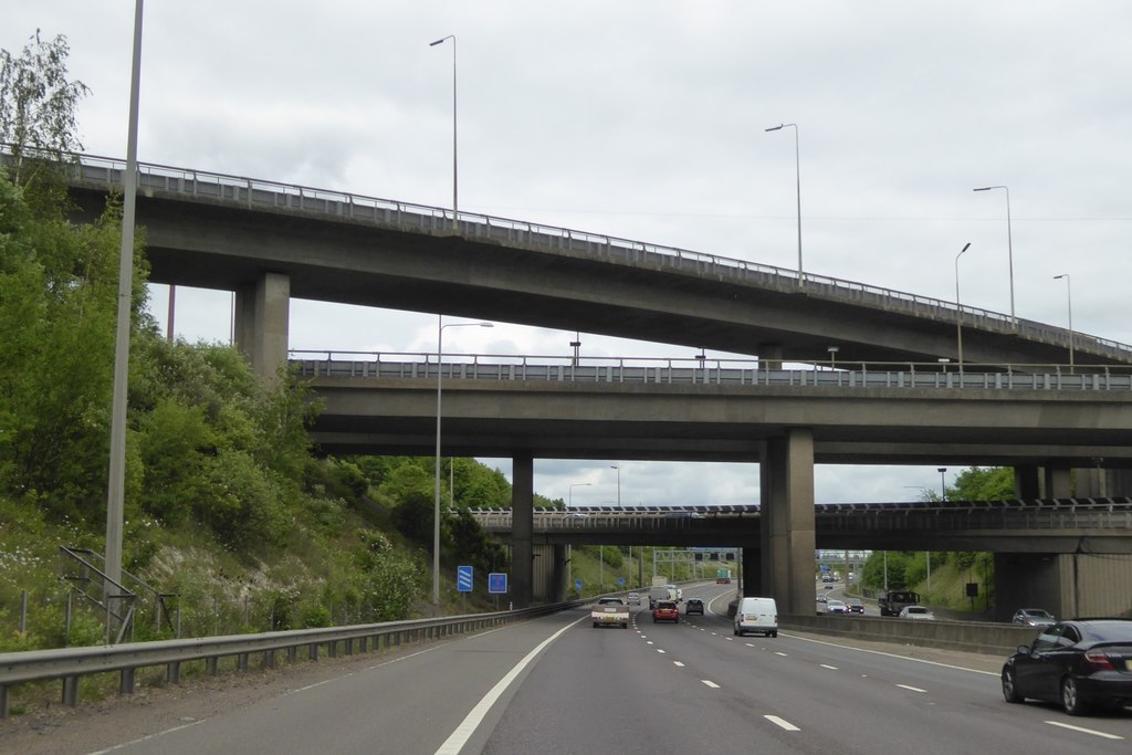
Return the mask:
<path fill-rule="evenodd" d="M 256 374 L 274 378 L 286 363 L 291 314 L 291 278 L 264 273 L 255 284 L 235 291 L 235 345 Z"/>

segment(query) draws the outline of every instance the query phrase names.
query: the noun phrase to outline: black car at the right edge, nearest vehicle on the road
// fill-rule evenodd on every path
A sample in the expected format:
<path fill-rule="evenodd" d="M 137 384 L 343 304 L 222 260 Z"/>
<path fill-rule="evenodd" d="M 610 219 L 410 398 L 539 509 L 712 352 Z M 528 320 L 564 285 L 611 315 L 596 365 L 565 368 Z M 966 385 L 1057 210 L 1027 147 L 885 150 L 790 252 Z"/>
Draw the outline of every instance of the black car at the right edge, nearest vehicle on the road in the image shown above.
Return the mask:
<path fill-rule="evenodd" d="M 1132 620 L 1075 619 L 1041 630 L 1002 667 L 1007 703 L 1060 703 L 1070 715 L 1132 703 Z"/>

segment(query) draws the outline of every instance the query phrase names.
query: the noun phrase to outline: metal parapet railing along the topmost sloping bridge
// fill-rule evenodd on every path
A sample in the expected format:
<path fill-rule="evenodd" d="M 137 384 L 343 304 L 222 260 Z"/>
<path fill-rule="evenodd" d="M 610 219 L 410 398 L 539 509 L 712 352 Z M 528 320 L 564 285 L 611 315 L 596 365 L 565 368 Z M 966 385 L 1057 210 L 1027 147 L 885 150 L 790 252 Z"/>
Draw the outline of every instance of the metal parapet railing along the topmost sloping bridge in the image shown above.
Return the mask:
<path fill-rule="evenodd" d="M 0 145 L 0 160 L 9 160 L 10 154 L 10 145 Z M 70 157 L 74 163 L 69 166 L 79 181 L 110 188 L 123 185 L 125 161 L 97 155 L 75 154 Z M 138 173 L 138 188 L 143 192 L 168 191 L 195 199 L 239 204 L 250 209 L 301 211 L 426 233 L 447 233 L 451 229 L 452 211 L 429 205 L 153 163 L 139 163 Z M 1056 345 L 1072 344 L 1082 352 L 1132 362 L 1132 346 L 1116 341 L 866 283 L 477 213 L 460 213 L 457 224 L 461 235 L 465 238 L 523 243 L 551 252 L 585 254 L 638 266 L 648 264 L 675 268 L 688 275 L 722 277 L 774 291 L 800 290 L 807 295 L 884 311 L 958 321 L 968 327 L 1017 334 Z"/>

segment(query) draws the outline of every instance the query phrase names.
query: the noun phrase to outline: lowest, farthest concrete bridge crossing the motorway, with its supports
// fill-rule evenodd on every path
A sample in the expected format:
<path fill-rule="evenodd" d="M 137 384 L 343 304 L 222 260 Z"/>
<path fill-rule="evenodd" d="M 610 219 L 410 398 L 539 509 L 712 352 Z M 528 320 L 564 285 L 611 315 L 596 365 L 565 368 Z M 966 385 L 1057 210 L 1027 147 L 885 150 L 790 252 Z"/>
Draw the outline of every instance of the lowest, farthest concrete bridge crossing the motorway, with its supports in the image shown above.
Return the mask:
<path fill-rule="evenodd" d="M 993 552 L 1000 620 L 1023 604 L 1057 616 L 1132 611 L 1132 498 L 817 504 L 814 511 L 823 549 Z M 492 537 L 511 540 L 509 509 L 472 515 Z M 554 564 L 566 558 L 566 546 L 741 548 L 751 594 L 763 586 L 762 527 L 757 505 L 535 509 L 533 541 Z M 558 591 L 561 572 L 544 574 Z"/>

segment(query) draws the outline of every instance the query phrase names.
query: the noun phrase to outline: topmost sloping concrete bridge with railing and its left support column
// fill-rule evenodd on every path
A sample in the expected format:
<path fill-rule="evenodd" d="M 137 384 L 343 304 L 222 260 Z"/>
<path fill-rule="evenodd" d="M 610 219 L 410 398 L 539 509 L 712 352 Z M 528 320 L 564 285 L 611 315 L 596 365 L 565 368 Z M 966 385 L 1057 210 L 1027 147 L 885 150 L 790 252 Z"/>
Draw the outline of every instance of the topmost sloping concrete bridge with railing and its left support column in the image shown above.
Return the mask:
<path fill-rule="evenodd" d="M 85 216 L 121 161 L 82 156 Z M 1132 363 L 1132 346 L 865 283 L 471 213 L 191 169 L 139 166 L 151 280 L 235 291 L 237 340 L 286 357 L 290 297 L 683 344 L 772 362 Z"/>

